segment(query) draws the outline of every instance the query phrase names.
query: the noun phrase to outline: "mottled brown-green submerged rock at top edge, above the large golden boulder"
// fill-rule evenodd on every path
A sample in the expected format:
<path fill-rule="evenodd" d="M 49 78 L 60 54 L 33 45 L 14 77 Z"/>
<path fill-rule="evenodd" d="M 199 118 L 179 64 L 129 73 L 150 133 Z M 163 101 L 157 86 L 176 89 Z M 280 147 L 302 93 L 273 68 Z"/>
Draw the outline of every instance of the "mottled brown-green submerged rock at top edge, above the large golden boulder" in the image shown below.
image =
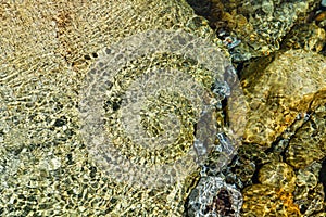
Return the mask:
<path fill-rule="evenodd" d="M 222 37 L 229 33 L 241 40 L 231 51 L 233 60 L 240 62 L 279 50 L 283 37 L 318 4 L 319 0 L 217 0 L 204 5 L 211 8 L 206 16 Z"/>

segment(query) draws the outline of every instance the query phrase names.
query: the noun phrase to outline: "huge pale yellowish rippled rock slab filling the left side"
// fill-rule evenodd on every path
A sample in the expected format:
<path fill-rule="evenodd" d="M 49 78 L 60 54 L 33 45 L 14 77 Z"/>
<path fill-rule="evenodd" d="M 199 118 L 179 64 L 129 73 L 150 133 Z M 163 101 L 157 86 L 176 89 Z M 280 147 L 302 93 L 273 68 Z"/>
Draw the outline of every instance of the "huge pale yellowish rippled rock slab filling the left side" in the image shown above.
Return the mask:
<path fill-rule="evenodd" d="M 222 82 L 215 92 L 212 86 L 215 81 L 222 81 L 217 78 L 224 75 L 234 78 L 228 76 L 230 64 L 225 56 L 227 52 L 216 46 L 220 44 L 218 39 L 208 22 L 195 15 L 185 1 L 177 0 L 15 1 L 1 4 L 0 25 L 0 142 L 3 146 L 1 153 L 5 157 L 0 165 L 0 180 L 5 183 L 0 189 L 1 214 L 181 216 L 185 200 L 199 176 L 200 165 L 192 155 L 187 155 L 195 143 L 196 125 L 209 126 L 202 135 L 209 132 L 214 136 L 213 140 L 198 136 L 199 140 L 203 140 L 200 142 L 204 150 L 205 145 L 215 142 L 217 119 L 223 123 L 223 118 L 217 118 L 215 113 L 223 113 L 221 101 L 226 97 L 224 89 L 227 85 Z M 161 38 L 160 34 L 151 35 L 167 29 L 174 34 L 165 38 Z M 178 33 L 191 34 L 195 40 L 187 40 L 189 38 L 180 37 Z M 143 38 L 137 38 L 140 35 Z M 150 36 L 151 40 L 146 40 Z M 162 48 L 165 39 L 170 41 L 165 46 L 170 47 L 162 46 L 165 50 L 151 53 Z M 202 48 L 198 46 L 200 41 L 209 43 Z M 146 43 L 150 43 L 149 47 Z M 183 49 L 191 52 L 184 55 Z M 138 56 L 137 51 L 141 51 Z M 215 51 L 218 54 L 212 58 L 210 54 Z M 112 58 L 113 54 L 116 55 Z M 131 56 L 131 60 L 126 56 Z M 199 61 L 196 61 L 197 58 Z M 121 68 L 110 67 L 112 62 L 121 63 Z M 205 68 L 208 64 L 213 64 L 213 68 Z M 117 75 L 111 77 L 112 80 L 97 80 L 98 85 L 103 84 L 97 87 L 98 90 L 108 94 L 101 99 L 92 95 L 95 98 L 90 98 L 90 101 L 93 101 L 86 104 L 100 99 L 100 106 L 88 107 L 95 116 L 86 115 L 80 119 L 80 94 L 96 86 L 96 80 L 91 80 L 93 77 L 86 76 L 89 75 L 89 65 L 101 75 L 106 76 L 114 69 Z M 161 68 L 170 66 L 179 69 L 183 76 L 171 69 L 164 75 L 159 73 L 152 77 L 156 79 L 143 82 L 141 87 L 137 84 L 148 81 L 147 76 L 150 77 L 152 72 L 162 72 Z M 96 74 L 96 71 L 91 73 Z M 179 75 L 178 79 L 174 79 L 176 75 Z M 85 81 L 84 78 L 89 80 Z M 190 80 L 195 80 L 206 94 L 198 94 L 198 89 L 193 89 L 198 86 L 190 86 Z M 168 90 L 178 87 L 175 90 L 179 93 L 155 92 L 158 85 L 168 86 Z M 150 95 L 143 104 L 129 106 L 135 99 L 143 97 L 141 89 L 134 92 L 142 87 L 151 87 L 148 90 L 153 91 L 148 92 L 155 95 Z M 126 100 L 123 94 L 130 94 L 127 99 L 130 101 L 122 101 Z M 187 98 L 189 95 L 192 98 Z M 197 106 L 202 105 L 200 103 L 191 104 L 193 101 L 205 101 L 202 104 L 206 107 Z M 217 107 L 220 112 L 215 111 Z M 102 122 L 96 123 L 103 111 L 105 115 L 101 117 Z M 138 115 L 133 114 L 135 111 L 139 112 Z M 197 119 L 197 123 L 195 117 L 200 116 L 200 112 L 208 112 L 209 115 L 208 118 Z M 128 122 L 130 119 L 122 116 L 140 123 Z M 238 117 L 230 117 L 235 120 L 235 128 L 239 127 Z M 87 120 L 89 123 L 83 123 Z M 89 128 L 88 139 L 82 138 L 85 136 L 80 133 L 82 123 L 84 126 L 95 124 L 93 128 Z M 181 123 L 183 126 L 175 127 L 174 123 Z M 95 155 L 89 149 L 97 148 L 106 139 L 97 137 L 99 130 L 103 129 L 99 126 L 103 127 L 104 124 L 106 128 L 100 136 L 110 135 L 115 146 L 100 146 L 101 155 Z M 141 136 L 146 136 L 147 141 L 141 140 Z M 171 137 L 166 139 L 163 136 Z M 155 140 L 153 143 L 156 145 L 150 145 L 152 137 L 163 139 Z M 226 148 L 233 148 L 228 150 L 231 153 L 224 155 L 229 161 L 236 146 Z M 115 152 L 106 152 L 112 149 Z M 45 157 L 47 153 L 51 154 Z M 110 158 L 110 154 L 114 158 Z M 116 157 L 118 155 L 123 156 Z M 11 156 L 15 156 L 16 161 Z M 112 167 L 96 164 L 98 158 Z M 133 176 L 135 167 L 128 163 L 140 165 L 137 168 L 138 177 Z M 153 166 L 150 170 L 153 174 L 149 173 L 147 166 Z M 137 179 L 141 175 L 145 175 L 142 179 Z M 156 177 L 164 180 L 163 183 Z"/>

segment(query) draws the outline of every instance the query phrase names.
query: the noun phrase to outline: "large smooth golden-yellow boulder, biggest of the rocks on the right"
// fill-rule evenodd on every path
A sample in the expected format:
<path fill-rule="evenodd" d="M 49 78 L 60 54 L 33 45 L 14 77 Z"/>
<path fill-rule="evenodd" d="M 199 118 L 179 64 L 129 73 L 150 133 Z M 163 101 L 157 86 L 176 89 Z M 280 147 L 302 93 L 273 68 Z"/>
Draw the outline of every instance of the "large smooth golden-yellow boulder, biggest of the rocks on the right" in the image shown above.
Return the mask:
<path fill-rule="evenodd" d="M 325 56 L 289 50 L 276 54 L 265 69 L 244 76 L 243 91 L 251 108 L 244 142 L 269 148 L 298 116 L 315 110 L 325 97 Z"/>

